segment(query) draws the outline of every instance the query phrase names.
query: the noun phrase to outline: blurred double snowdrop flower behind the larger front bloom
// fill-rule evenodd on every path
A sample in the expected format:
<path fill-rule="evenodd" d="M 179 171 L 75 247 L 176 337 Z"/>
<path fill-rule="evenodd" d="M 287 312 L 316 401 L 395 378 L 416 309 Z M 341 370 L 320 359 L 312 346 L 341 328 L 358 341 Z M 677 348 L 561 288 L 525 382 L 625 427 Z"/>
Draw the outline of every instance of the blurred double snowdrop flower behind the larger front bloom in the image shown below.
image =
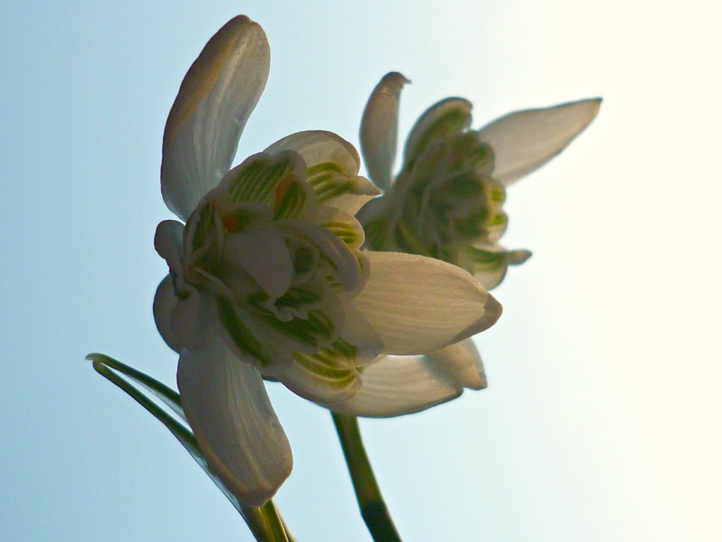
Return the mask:
<path fill-rule="evenodd" d="M 491 289 L 508 266 L 531 255 L 498 244 L 507 224 L 505 188 L 559 154 L 591 123 L 601 100 L 510 113 L 478 131 L 469 129 L 471 102 L 442 100 L 412 128 L 394 178 L 399 96 L 408 82 L 397 72 L 387 74 L 363 113 L 362 154 L 371 180 L 384 192 L 358 214 L 366 247 L 440 258 Z M 395 416 L 487 385 L 471 339 L 425 356 L 380 359 L 367 367 L 364 382 L 361 393 L 334 410 Z"/>

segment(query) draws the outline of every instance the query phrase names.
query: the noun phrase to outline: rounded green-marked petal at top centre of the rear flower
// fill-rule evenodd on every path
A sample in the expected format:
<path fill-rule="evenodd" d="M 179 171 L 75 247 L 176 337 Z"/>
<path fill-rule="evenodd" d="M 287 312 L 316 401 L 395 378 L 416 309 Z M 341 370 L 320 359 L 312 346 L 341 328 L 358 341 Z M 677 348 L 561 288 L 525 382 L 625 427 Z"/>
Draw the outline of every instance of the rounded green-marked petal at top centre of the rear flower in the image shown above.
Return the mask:
<path fill-rule="evenodd" d="M 404 167 L 410 167 L 432 141 L 469 128 L 471 108 L 471 102 L 464 98 L 446 98 L 428 108 L 406 140 Z"/>

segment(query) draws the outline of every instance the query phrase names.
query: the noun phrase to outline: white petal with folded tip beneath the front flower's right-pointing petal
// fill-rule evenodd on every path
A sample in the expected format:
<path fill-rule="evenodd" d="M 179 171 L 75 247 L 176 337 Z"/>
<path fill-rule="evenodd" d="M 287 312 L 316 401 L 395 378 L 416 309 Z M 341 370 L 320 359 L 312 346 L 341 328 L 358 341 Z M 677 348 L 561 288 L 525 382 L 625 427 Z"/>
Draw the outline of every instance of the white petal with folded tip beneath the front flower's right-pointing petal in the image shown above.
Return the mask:
<path fill-rule="evenodd" d="M 382 356 L 363 367 L 361 380 L 361 390 L 353 398 L 328 407 L 352 416 L 401 416 L 451 401 L 464 388 L 487 385 L 482 359 L 470 338 L 425 356 Z"/>

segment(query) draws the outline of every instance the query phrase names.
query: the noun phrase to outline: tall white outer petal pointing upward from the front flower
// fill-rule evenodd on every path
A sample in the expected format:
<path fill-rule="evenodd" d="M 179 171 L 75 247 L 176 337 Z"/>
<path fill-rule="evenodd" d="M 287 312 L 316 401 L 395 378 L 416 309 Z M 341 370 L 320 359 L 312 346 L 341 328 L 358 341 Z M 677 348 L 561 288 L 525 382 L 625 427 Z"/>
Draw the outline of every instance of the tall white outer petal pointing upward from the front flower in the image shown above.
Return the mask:
<path fill-rule="evenodd" d="M 160 168 L 163 200 L 181 219 L 191 216 L 230 168 L 269 64 L 263 29 L 248 17 L 235 17 L 188 70 L 165 124 Z"/>

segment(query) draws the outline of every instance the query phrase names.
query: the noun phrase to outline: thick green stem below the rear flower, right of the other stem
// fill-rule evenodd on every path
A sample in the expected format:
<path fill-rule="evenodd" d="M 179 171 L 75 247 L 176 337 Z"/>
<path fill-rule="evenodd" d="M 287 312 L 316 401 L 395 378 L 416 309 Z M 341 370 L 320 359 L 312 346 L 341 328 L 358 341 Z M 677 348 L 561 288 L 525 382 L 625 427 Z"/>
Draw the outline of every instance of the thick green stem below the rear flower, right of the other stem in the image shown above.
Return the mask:
<path fill-rule="evenodd" d="M 355 416 L 331 413 L 344 450 L 361 517 L 375 542 L 401 542 L 366 455 Z"/>

